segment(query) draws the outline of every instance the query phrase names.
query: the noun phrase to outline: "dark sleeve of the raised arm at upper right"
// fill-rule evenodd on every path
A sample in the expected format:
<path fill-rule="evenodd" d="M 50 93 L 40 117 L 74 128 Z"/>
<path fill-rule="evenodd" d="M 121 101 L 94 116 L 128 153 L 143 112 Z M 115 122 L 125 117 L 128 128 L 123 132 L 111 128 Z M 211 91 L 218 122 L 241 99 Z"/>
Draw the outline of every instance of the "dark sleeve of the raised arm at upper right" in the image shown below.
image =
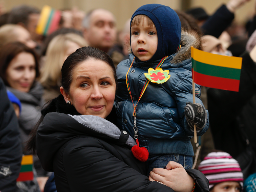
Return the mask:
<path fill-rule="evenodd" d="M 227 9 L 226 5 L 222 5 L 206 20 L 201 29 L 204 35 L 212 35 L 218 38 L 234 18 L 234 14 Z"/>

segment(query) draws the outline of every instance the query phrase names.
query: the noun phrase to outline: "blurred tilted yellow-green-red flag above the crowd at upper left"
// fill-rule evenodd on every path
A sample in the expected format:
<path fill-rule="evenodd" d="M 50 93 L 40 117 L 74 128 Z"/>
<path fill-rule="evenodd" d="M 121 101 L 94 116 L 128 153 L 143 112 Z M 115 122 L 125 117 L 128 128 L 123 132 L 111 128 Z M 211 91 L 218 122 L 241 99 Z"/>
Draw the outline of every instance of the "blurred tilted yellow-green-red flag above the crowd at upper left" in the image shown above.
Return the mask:
<path fill-rule="evenodd" d="M 49 35 L 59 27 L 61 11 L 55 10 L 50 6 L 43 6 L 37 24 L 36 32 L 40 35 Z"/>

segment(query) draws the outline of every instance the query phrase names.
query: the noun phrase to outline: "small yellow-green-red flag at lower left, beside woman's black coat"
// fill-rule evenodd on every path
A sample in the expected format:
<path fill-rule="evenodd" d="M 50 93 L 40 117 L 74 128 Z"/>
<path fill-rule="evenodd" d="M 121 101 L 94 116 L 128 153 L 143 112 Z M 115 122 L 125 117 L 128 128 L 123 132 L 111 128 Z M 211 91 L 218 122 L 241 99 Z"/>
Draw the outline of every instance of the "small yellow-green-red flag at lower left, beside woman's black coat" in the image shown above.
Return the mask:
<path fill-rule="evenodd" d="M 21 160 L 21 169 L 17 181 L 32 181 L 33 179 L 33 156 L 23 155 Z"/>

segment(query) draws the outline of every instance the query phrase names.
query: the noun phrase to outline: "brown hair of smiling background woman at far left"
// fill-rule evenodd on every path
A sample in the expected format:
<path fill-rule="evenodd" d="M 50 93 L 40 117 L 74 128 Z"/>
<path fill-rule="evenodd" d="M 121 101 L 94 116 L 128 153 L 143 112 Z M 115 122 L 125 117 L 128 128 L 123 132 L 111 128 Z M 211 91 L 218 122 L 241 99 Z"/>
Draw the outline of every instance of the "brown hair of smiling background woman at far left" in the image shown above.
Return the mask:
<path fill-rule="evenodd" d="M 39 77 L 38 56 L 35 51 L 21 42 L 7 43 L 0 49 L 0 77 L 3 79 L 5 85 L 9 86 L 6 80 L 6 69 L 10 62 L 22 52 L 31 53 L 35 59 L 36 77 Z"/>

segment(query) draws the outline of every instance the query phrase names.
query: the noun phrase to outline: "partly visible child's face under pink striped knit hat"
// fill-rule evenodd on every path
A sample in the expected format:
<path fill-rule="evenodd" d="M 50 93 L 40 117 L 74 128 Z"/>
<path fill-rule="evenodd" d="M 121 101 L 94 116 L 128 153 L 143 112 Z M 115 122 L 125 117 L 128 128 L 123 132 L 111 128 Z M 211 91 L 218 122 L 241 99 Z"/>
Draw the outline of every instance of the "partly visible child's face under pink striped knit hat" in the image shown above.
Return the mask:
<path fill-rule="evenodd" d="M 236 181 L 226 181 L 213 187 L 211 192 L 240 192 L 241 187 Z"/>

